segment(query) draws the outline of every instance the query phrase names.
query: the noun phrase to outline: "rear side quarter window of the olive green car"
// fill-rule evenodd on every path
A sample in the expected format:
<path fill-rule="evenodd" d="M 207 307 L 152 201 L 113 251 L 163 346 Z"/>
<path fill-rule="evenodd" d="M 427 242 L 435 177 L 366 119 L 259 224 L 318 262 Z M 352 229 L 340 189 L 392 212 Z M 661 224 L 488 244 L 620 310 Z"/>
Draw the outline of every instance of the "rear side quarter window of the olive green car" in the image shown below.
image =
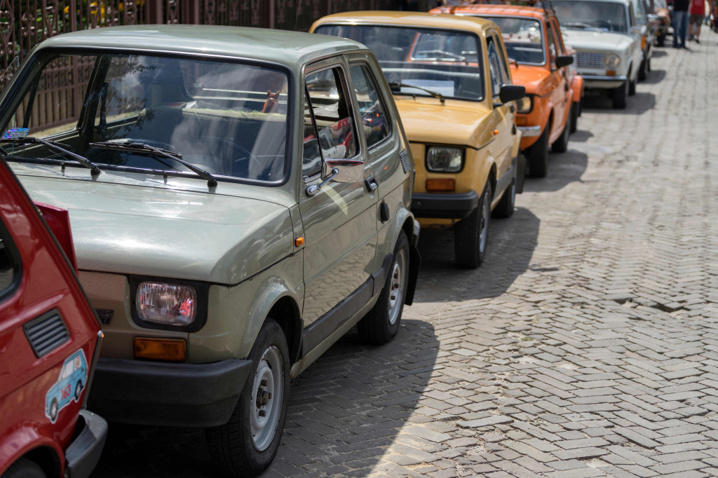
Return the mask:
<path fill-rule="evenodd" d="M 386 108 L 381 103 L 376 83 L 365 66 L 354 65 L 349 72 L 357 95 L 366 143 L 371 147 L 389 136 Z"/>

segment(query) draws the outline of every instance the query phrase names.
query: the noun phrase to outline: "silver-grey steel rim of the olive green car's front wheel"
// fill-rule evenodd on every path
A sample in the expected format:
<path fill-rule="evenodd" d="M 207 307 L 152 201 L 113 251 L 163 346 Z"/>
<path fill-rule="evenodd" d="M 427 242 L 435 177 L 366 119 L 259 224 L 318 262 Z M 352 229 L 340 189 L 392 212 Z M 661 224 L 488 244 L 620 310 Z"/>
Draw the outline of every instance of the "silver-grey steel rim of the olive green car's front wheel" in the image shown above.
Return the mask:
<path fill-rule="evenodd" d="M 274 439 L 284 397 L 284 367 L 281 352 L 274 345 L 264 350 L 252 384 L 250 428 L 252 441 L 259 451 Z"/>

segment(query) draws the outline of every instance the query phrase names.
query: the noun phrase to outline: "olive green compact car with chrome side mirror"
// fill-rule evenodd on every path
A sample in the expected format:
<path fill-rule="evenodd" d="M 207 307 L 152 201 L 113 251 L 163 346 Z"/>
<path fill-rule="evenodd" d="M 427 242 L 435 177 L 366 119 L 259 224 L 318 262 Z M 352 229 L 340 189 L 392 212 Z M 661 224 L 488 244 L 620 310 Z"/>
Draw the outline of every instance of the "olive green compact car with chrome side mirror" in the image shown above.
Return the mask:
<path fill-rule="evenodd" d="M 419 268 L 414 162 L 362 44 L 115 27 L 37 47 L 1 153 L 70 212 L 105 339 L 88 408 L 202 426 L 230 474 L 269 467 L 289 380 L 355 324 L 397 333 Z"/>

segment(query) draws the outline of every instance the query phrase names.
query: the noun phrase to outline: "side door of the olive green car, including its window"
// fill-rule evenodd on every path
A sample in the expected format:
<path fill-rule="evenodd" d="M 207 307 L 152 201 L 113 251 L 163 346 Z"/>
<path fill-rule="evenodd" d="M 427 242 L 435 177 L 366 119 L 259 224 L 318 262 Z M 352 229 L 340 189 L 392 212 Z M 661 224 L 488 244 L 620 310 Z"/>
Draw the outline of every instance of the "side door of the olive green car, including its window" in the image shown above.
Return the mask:
<path fill-rule="evenodd" d="M 303 172 L 307 187 L 322 182 L 322 160 L 365 160 L 357 106 L 346 64 L 324 60 L 305 76 Z M 364 177 L 373 173 L 365 164 Z M 304 225 L 304 351 L 318 345 L 373 295 L 377 199 L 367 181 L 327 182 L 302 195 Z"/>

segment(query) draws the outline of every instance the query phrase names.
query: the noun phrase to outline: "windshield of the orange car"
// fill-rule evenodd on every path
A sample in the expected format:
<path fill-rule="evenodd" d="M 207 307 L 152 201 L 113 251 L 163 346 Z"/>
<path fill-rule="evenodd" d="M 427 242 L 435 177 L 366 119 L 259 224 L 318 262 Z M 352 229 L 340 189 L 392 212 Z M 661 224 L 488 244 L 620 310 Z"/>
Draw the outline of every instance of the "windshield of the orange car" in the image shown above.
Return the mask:
<path fill-rule="evenodd" d="M 484 17 L 501 29 L 506 53 L 511 60 L 525 65 L 544 65 L 544 33 L 538 20 L 517 17 Z"/>

